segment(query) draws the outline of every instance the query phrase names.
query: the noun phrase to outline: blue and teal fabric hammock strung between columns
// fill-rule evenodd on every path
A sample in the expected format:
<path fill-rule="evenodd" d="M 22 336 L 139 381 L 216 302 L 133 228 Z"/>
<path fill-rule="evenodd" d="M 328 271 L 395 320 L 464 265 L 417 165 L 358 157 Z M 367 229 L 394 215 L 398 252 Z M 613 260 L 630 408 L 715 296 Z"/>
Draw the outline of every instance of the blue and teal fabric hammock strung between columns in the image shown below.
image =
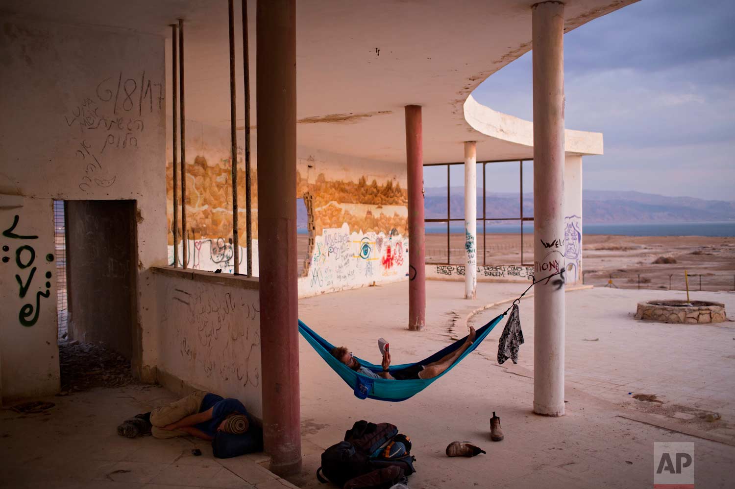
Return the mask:
<path fill-rule="evenodd" d="M 359 399 L 365 399 L 369 397 L 370 399 L 378 399 L 379 401 L 399 402 L 405 401 L 406 399 L 409 399 L 409 397 L 412 397 L 415 394 L 418 394 L 420 391 L 423 391 L 425 388 L 429 387 L 429 385 L 431 385 L 434 380 L 437 380 L 439 377 L 442 377 L 442 375 L 453 369 L 457 363 L 462 361 L 463 358 L 465 358 L 467 355 L 470 355 L 470 353 L 477 348 L 477 345 L 480 344 L 480 342 L 487 337 L 490 331 L 492 331 L 492 328 L 495 327 L 495 325 L 497 325 L 498 322 L 500 322 L 505 315 L 506 313 L 501 314 L 495 319 L 492 319 L 492 321 L 487 323 L 487 325 L 484 325 L 483 327 L 478 329 L 476 332 L 477 336 L 475 338 L 475 341 L 473 341 L 473 344 L 471 344 L 470 347 L 467 348 L 467 350 L 465 350 L 465 352 L 462 353 L 462 355 L 454 363 L 452 363 L 448 369 L 437 375 L 437 377 L 433 377 L 431 379 L 391 380 L 373 379 L 370 377 L 366 377 L 365 375 L 358 374 L 353 369 L 350 369 L 344 363 L 337 360 L 337 358 L 334 358 L 334 356 L 330 353 L 331 349 L 334 348 L 334 345 L 329 343 L 329 341 L 326 341 L 324 338 L 315 333 L 314 330 L 306 326 L 303 322 L 301 322 L 301 319 L 299 319 L 298 321 L 298 331 L 299 333 L 301 333 L 302 336 L 304 336 L 304 338 L 306 338 L 306 341 L 309 341 L 309 344 L 312 345 L 312 347 L 317 351 L 321 358 L 323 358 L 324 361 L 326 361 L 326 363 L 328 363 L 329 366 L 334 369 L 334 372 L 337 372 L 337 374 L 342 377 L 345 383 L 347 383 L 351 388 L 354 389 L 355 396 L 359 397 Z M 453 344 L 449 345 L 445 349 L 442 349 L 440 352 L 434 353 L 434 355 L 431 355 L 429 358 L 426 358 L 425 360 L 417 363 L 419 363 L 420 365 L 426 365 L 427 363 L 439 360 L 448 353 L 454 352 L 459 347 L 462 347 L 462 344 L 465 342 L 466 338 L 467 336 L 465 336 L 465 338 L 455 341 Z M 357 361 L 359 361 L 359 363 L 362 364 L 362 366 L 367 367 L 373 372 L 378 373 L 383 371 L 383 368 L 380 365 L 375 365 L 374 363 L 364 361 L 361 358 L 355 358 Z M 402 365 L 391 366 L 389 372 L 406 369 L 409 366 L 414 365 L 416 365 L 416 363 L 404 363 Z"/>

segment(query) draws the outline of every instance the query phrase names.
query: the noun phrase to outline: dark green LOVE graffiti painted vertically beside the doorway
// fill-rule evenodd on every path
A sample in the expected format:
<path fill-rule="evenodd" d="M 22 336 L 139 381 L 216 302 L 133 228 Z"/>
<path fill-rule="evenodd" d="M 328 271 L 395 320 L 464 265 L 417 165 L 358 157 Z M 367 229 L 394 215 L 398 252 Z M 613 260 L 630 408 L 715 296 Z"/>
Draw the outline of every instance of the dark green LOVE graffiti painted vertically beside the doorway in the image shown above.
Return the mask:
<path fill-rule="evenodd" d="M 18 283 L 18 297 L 20 297 L 21 299 L 25 299 L 26 296 L 29 295 L 29 291 L 34 285 L 33 279 L 35 278 L 35 274 L 38 269 L 37 266 L 34 266 L 34 264 L 37 264 L 37 261 L 36 251 L 32 245 L 32 241 L 38 239 L 38 236 L 16 232 L 15 228 L 17 228 L 18 226 L 19 220 L 20 217 L 18 216 L 18 214 L 15 214 L 12 224 L 2 232 L 2 236 L 7 239 L 16 239 L 21 241 L 21 244 L 15 248 L 15 252 L 12 253 L 12 255 L 14 255 L 15 258 L 15 267 L 18 269 L 18 273 L 15 274 L 15 281 L 16 283 Z M 10 245 L 3 245 L 2 250 L 3 253 L 11 253 Z M 4 255 L 2 257 L 2 262 L 4 264 L 10 263 L 10 258 L 11 256 Z M 54 255 L 52 253 L 47 253 L 46 264 L 51 264 L 53 263 L 53 261 Z M 51 296 L 51 281 L 49 279 L 52 276 L 53 274 L 50 270 L 46 272 L 47 280 L 46 283 L 43 284 L 46 286 L 46 290 L 36 291 L 35 298 L 31 299 L 29 303 L 24 304 L 21 307 L 21 310 L 18 311 L 18 321 L 21 323 L 21 325 L 30 327 L 38 322 L 41 297 L 47 299 Z M 31 293 L 30 297 L 33 296 L 34 294 Z"/>

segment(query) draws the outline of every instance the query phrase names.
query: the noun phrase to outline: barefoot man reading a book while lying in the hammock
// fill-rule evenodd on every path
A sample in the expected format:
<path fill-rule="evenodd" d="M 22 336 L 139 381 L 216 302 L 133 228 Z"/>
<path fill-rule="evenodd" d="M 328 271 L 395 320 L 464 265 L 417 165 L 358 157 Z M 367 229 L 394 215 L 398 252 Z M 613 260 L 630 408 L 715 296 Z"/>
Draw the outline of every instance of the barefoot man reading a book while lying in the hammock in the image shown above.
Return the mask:
<path fill-rule="evenodd" d="M 365 375 L 365 377 L 372 377 L 373 379 L 431 379 L 433 377 L 437 377 L 437 375 L 448 369 L 452 365 L 452 363 L 454 363 L 456 359 L 459 358 L 462 353 L 464 353 L 465 350 L 470 347 L 470 344 L 475 341 L 475 335 L 475 328 L 470 326 L 470 334 L 467 336 L 465 343 L 462 344 L 462 347 L 459 347 L 455 351 L 448 353 L 443 358 L 440 358 L 440 360 L 437 360 L 435 362 L 431 362 L 426 365 L 420 365 L 417 363 L 415 365 L 406 367 L 405 369 L 396 370 L 395 372 L 388 372 L 388 367 L 390 366 L 390 352 L 387 348 L 383 353 L 383 361 L 381 363 L 381 365 L 383 366 L 383 372 L 380 372 L 379 374 L 376 374 L 367 367 L 362 366 L 359 361 L 357 361 L 357 359 L 352 356 L 352 352 L 349 351 L 347 347 L 334 347 L 333 349 L 331 349 L 331 355 L 334 356 L 334 358 L 337 358 L 337 360 L 339 360 L 340 362 L 344 363 L 346 366 L 353 369 L 358 374 Z"/>

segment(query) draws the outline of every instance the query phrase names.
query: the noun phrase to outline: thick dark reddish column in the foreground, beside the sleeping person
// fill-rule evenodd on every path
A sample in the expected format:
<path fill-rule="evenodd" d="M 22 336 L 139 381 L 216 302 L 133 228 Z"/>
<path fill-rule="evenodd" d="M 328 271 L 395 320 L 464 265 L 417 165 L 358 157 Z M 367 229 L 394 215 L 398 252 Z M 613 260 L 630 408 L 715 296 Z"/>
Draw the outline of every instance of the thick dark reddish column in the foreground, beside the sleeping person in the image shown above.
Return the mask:
<path fill-rule="evenodd" d="M 296 6 L 257 2 L 263 435 L 270 470 L 301 470 L 296 282 Z"/>

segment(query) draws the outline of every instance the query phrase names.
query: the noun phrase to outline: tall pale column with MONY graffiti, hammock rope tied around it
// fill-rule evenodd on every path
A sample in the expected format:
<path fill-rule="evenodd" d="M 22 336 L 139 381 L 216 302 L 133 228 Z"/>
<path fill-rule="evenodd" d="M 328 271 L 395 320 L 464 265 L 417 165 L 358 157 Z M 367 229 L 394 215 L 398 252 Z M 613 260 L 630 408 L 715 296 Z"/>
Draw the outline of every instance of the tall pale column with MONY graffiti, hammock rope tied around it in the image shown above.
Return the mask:
<path fill-rule="evenodd" d="M 564 269 L 564 4 L 531 7 L 534 77 L 534 278 Z M 534 413 L 564 414 L 564 283 L 534 292 Z"/>

